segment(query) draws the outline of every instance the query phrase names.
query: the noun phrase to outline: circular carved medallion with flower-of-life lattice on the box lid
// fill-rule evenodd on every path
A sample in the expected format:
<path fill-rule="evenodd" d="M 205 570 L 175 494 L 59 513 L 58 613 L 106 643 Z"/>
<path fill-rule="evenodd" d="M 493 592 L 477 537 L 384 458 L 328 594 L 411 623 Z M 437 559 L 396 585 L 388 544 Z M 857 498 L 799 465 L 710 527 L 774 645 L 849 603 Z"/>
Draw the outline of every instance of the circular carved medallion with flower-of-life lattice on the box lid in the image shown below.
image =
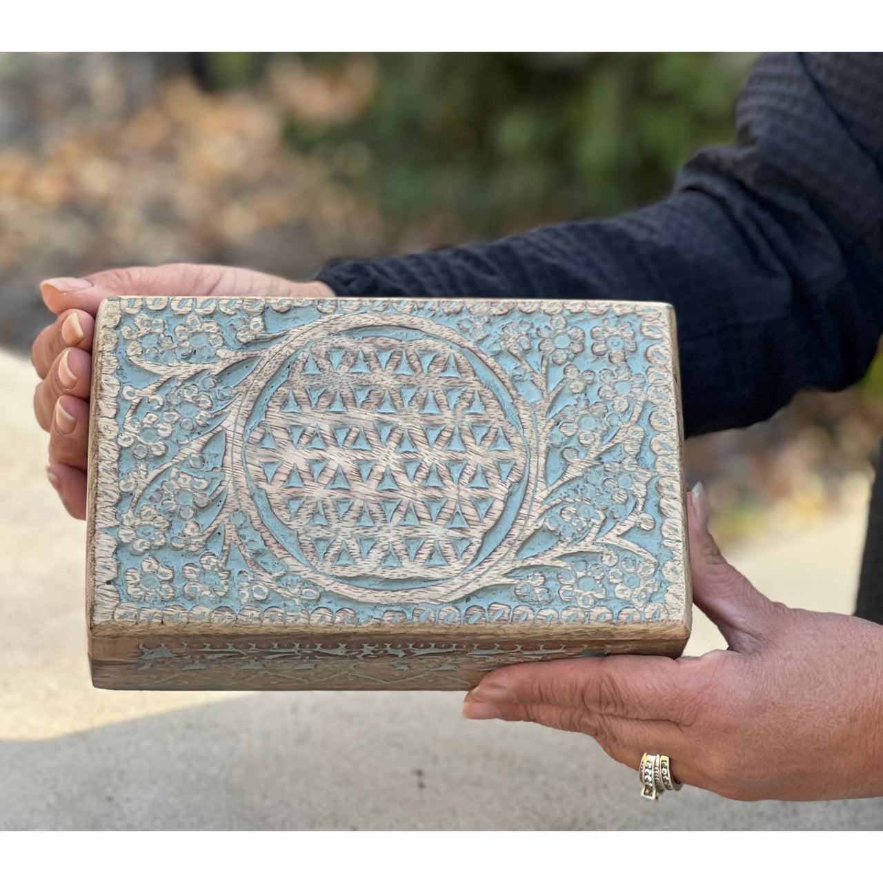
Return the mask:
<path fill-rule="evenodd" d="M 359 318 L 256 372 L 239 421 L 255 526 L 345 597 L 462 596 L 518 524 L 524 404 L 447 329 Z"/>

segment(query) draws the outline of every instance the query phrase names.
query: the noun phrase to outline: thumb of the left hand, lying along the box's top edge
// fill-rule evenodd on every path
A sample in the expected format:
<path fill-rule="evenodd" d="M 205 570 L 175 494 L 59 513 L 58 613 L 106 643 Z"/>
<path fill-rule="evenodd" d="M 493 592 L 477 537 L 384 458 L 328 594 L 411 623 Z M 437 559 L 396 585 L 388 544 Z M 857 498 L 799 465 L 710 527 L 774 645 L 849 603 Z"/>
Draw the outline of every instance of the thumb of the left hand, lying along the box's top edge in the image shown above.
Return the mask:
<path fill-rule="evenodd" d="M 181 297 L 181 298 L 249 298 L 314 296 L 281 276 L 259 273 L 238 267 L 214 264 L 164 264 L 162 267 L 127 267 L 103 270 L 81 279 L 59 277 L 40 283 L 43 300 L 53 313 L 80 309 L 94 315 L 104 298 Z M 322 286 L 321 297 L 329 290 Z"/>

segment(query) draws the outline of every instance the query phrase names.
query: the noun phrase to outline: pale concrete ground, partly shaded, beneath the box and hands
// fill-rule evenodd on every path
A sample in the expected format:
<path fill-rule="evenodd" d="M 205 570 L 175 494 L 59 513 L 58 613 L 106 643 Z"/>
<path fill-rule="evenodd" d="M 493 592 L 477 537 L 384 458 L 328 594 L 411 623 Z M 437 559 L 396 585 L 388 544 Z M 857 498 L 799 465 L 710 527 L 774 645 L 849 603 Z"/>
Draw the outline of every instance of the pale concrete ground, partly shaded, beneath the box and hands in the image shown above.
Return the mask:
<path fill-rule="evenodd" d="M 34 375 L 0 352 L 0 828 L 883 827 L 883 799 L 658 804 L 584 736 L 464 721 L 455 693 L 127 693 L 89 682 L 85 531 L 44 478 Z M 849 612 L 860 507 L 731 560 L 768 594 Z M 699 617 L 688 653 L 721 646 Z"/>

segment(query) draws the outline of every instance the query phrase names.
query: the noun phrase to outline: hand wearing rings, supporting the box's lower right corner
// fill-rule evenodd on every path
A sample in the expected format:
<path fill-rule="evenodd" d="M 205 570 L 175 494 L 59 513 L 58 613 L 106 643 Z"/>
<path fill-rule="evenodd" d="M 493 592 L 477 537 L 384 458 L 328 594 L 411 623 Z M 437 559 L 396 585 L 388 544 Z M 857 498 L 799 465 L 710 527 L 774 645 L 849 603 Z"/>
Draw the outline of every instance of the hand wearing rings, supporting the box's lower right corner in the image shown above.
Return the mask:
<path fill-rule="evenodd" d="M 687 509 L 694 600 L 728 650 L 501 668 L 464 716 L 582 732 L 634 769 L 668 754 L 675 778 L 736 800 L 883 795 L 883 626 L 767 599 L 714 545 L 701 488 Z"/>

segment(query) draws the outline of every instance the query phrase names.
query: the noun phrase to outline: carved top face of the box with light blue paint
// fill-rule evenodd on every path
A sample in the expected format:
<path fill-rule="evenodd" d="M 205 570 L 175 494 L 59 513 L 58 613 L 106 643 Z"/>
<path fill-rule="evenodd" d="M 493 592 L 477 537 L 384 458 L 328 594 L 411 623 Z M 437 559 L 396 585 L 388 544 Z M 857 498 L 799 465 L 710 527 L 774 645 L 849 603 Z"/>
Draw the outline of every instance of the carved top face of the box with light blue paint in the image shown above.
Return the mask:
<path fill-rule="evenodd" d="M 659 310 L 129 310 L 115 347 L 124 605 L 352 624 L 672 618 Z M 342 332 L 353 314 L 374 321 Z"/>

